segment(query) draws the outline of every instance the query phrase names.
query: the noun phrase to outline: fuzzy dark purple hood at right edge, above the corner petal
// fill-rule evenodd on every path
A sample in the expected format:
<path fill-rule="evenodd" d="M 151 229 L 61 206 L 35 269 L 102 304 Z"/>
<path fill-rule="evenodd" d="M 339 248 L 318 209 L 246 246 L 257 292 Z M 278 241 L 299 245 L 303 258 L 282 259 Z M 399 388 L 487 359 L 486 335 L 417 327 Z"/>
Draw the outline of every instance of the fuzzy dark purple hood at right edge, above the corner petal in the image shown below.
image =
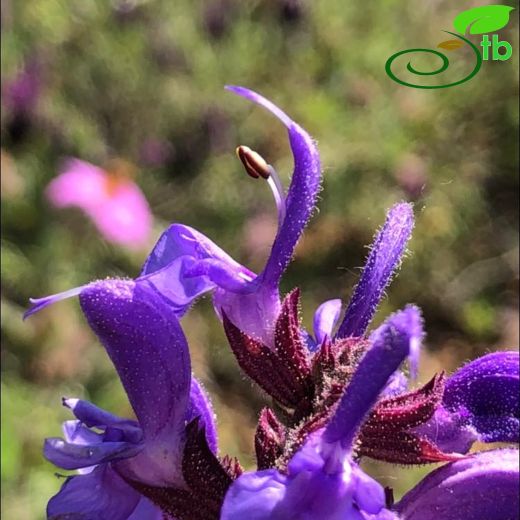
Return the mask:
<path fill-rule="evenodd" d="M 460 368 L 446 382 L 444 406 L 469 413 L 485 442 L 519 442 L 518 352 L 495 352 Z"/>

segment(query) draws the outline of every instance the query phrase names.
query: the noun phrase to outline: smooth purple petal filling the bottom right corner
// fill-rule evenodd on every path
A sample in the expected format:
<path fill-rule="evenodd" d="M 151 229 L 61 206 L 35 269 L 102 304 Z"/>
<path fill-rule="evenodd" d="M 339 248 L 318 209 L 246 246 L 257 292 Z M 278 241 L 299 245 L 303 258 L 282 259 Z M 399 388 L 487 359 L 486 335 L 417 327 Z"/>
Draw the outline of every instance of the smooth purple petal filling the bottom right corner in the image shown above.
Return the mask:
<path fill-rule="evenodd" d="M 397 504 L 401 520 L 518 518 L 518 450 L 491 450 L 430 473 Z"/>

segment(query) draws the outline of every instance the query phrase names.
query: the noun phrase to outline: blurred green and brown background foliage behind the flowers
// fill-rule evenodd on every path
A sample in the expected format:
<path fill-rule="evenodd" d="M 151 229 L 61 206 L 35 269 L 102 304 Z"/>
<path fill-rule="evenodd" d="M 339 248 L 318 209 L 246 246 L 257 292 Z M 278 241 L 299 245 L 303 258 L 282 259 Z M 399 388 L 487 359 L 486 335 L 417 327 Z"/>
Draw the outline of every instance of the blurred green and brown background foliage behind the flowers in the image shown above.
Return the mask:
<path fill-rule="evenodd" d="M 172 222 L 192 225 L 260 270 L 276 230 L 265 185 L 234 149 L 259 151 L 287 183 L 291 156 L 272 116 L 223 90 L 254 88 L 318 140 L 319 212 L 283 279 L 299 286 L 309 325 L 321 301 L 347 300 L 365 246 L 399 200 L 415 202 L 411 254 L 376 322 L 407 302 L 428 339 L 421 381 L 463 360 L 518 345 L 518 22 L 507 62 L 485 62 L 453 88 L 391 81 L 387 58 L 435 46 L 469 1 L 31 0 L 2 2 L 2 87 L 34 74 L 34 100 L 2 104 L 2 509 L 44 518 L 61 482 L 41 454 L 69 418 L 60 397 L 131 414 L 77 301 L 27 322 L 30 296 L 97 277 L 135 276 L 147 250 L 107 243 L 77 210 L 43 195 L 60 161 L 120 157 L 155 216 L 150 247 Z M 514 3 L 510 4 L 515 6 Z M 450 54 L 449 77 L 470 55 Z M 414 62 L 415 63 L 415 62 Z M 429 61 L 417 62 L 424 68 Z M 471 67 L 470 67 L 471 68 Z M 213 397 L 223 453 L 251 467 L 264 397 L 240 374 L 209 299 L 183 320 L 195 374 Z M 372 465 L 396 495 L 429 468 Z"/>

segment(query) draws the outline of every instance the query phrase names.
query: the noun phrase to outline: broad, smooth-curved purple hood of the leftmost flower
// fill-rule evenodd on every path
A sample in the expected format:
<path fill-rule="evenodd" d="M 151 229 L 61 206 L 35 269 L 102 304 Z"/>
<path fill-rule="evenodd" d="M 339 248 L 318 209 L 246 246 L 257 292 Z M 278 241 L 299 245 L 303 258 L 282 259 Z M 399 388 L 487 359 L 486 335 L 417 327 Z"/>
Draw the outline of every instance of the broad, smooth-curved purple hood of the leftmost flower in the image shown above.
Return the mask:
<path fill-rule="evenodd" d="M 172 309 L 129 280 L 90 284 L 80 295 L 148 442 L 177 436 L 190 389 L 188 345 Z"/>

